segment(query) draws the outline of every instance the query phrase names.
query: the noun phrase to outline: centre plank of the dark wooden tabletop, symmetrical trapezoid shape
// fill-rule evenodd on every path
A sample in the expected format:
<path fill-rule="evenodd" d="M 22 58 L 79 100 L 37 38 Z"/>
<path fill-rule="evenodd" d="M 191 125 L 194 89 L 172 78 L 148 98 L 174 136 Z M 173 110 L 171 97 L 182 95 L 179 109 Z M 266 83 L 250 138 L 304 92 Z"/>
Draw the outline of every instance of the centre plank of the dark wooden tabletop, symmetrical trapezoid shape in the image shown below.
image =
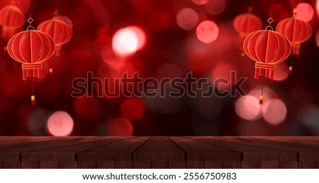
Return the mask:
<path fill-rule="evenodd" d="M 167 137 L 152 137 L 134 153 L 135 161 L 184 161 L 185 153 Z"/>

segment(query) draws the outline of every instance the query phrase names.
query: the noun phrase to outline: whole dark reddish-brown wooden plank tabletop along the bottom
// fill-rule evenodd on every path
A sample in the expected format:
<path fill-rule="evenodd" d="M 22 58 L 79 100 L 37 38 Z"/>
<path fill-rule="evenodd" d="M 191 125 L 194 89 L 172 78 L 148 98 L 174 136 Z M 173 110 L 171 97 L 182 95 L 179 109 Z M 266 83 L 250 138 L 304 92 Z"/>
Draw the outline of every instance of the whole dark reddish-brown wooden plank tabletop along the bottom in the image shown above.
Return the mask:
<path fill-rule="evenodd" d="M 319 137 L 0 137 L 0 168 L 319 168 Z"/>

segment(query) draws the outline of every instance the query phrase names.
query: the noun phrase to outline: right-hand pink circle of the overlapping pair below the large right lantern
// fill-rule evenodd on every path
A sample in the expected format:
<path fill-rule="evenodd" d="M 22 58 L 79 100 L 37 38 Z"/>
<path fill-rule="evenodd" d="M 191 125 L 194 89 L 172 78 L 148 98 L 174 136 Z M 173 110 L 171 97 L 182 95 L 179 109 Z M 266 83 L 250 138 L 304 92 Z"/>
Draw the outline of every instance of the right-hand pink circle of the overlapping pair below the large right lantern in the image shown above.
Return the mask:
<path fill-rule="evenodd" d="M 266 103 L 267 107 L 262 109 L 264 119 L 272 125 L 284 122 L 287 116 L 286 104 L 279 99 L 270 99 Z"/>

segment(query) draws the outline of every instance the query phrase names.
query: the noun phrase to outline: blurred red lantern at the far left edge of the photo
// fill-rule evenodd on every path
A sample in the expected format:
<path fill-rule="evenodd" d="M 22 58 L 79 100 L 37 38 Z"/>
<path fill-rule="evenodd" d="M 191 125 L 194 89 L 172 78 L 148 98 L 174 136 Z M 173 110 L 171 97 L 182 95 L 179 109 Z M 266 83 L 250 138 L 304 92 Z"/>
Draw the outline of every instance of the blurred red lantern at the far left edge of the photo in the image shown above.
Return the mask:
<path fill-rule="evenodd" d="M 16 6 L 5 6 L 0 10 L 2 38 L 9 40 L 24 24 L 24 15 Z"/>

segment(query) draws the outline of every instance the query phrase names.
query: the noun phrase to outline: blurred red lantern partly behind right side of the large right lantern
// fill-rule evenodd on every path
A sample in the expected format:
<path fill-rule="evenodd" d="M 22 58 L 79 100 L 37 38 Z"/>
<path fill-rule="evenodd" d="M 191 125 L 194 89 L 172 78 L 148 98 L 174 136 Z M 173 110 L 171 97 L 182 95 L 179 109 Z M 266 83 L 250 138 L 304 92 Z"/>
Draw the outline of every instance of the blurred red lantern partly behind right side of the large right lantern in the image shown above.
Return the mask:
<path fill-rule="evenodd" d="M 312 28 L 306 21 L 293 16 L 280 21 L 276 30 L 288 38 L 293 48 L 293 55 L 300 55 L 301 43 L 311 37 Z"/>

